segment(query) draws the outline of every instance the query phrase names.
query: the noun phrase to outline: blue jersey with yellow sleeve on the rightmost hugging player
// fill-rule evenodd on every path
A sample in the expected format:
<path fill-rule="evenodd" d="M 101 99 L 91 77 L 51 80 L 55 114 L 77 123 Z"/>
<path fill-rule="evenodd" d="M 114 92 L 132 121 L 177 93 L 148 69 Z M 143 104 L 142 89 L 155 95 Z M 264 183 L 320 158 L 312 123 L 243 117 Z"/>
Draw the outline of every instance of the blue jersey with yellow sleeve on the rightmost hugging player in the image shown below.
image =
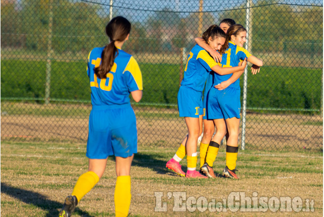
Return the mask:
<path fill-rule="evenodd" d="M 243 47 L 235 45 L 232 41 L 229 42 L 229 47 L 226 50 L 225 54 L 222 54 L 221 62 L 218 64 L 221 67 L 235 67 L 238 66 L 239 62 L 244 60 L 244 58 L 250 57 L 251 54 L 248 53 Z M 220 84 L 223 81 L 227 81 L 231 78 L 233 74 L 229 75 L 219 75 L 215 73 L 214 76 L 214 85 Z M 237 79 L 229 87 L 240 87 L 240 79 Z"/>

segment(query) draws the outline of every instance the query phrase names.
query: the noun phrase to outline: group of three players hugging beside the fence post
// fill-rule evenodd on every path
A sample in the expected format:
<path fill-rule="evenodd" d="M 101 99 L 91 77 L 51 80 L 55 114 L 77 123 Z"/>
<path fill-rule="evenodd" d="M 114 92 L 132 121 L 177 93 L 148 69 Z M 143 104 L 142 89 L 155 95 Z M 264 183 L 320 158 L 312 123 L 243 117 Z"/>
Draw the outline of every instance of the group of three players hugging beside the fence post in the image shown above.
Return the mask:
<path fill-rule="evenodd" d="M 235 24 L 233 19 L 222 20 L 219 27 L 209 27 L 203 33 L 203 38 L 196 38 L 195 41 L 197 44 L 189 53 L 178 93 L 179 114 L 185 118 L 188 134 L 175 156 L 166 163 L 166 167 L 180 176 L 215 178 L 213 162 L 220 141 L 226 136 L 226 166 L 222 173 L 238 179 L 236 160 L 241 107 L 239 77 L 246 61 L 253 64 L 251 69 L 254 75 L 259 72 L 263 63 L 243 48 L 246 29 Z M 201 170 L 198 172 L 197 139 L 202 134 L 203 123 L 204 134 L 200 143 Z M 216 133 L 213 136 L 215 128 Z M 179 162 L 186 155 L 187 173 L 184 173 Z"/>

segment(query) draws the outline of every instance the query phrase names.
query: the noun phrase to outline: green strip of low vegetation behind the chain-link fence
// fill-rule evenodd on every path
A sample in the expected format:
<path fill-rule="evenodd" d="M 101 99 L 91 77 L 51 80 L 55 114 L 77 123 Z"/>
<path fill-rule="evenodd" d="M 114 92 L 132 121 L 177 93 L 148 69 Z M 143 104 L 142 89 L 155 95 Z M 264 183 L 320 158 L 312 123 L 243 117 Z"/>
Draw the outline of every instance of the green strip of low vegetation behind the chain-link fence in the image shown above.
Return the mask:
<path fill-rule="evenodd" d="M 140 68 L 141 102 L 177 104 L 179 65 L 140 64 Z M 44 98 L 45 69 L 45 61 L 2 60 L 1 98 Z M 320 109 L 321 75 L 321 69 L 264 66 L 258 75 L 248 74 L 247 106 Z M 53 61 L 50 95 L 51 99 L 90 101 L 86 63 Z"/>

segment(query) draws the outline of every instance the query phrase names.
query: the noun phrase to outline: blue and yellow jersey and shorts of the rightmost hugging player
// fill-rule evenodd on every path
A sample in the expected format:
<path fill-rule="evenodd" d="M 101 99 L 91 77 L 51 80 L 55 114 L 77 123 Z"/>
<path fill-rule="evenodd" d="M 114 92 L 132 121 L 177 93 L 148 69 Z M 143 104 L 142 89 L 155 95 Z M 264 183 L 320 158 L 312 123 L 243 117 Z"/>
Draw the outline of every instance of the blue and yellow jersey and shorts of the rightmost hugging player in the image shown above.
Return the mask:
<path fill-rule="evenodd" d="M 219 63 L 221 67 L 235 67 L 238 66 L 241 60 L 250 57 L 243 47 L 235 45 L 232 41 L 229 42 L 229 48 L 225 54 L 222 55 L 222 60 Z M 232 74 L 219 75 L 215 73 L 214 85 L 220 84 L 223 81 L 227 81 Z M 222 118 L 240 118 L 240 80 L 237 79 L 226 89 L 218 90 L 211 88 L 209 91 L 208 99 L 208 118 L 211 119 L 222 119 Z"/>

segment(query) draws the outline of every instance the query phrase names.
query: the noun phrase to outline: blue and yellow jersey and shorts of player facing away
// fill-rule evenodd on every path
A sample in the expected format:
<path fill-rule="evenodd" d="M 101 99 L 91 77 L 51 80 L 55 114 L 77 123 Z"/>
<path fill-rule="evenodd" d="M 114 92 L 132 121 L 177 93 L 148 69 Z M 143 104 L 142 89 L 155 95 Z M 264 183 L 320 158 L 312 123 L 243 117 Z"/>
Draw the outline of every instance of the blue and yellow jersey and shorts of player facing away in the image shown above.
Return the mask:
<path fill-rule="evenodd" d="M 97 78 L 94 68 L 101 64 L 104 48 L 94 48 L 88 57 L 92 110 L 86 155 L 90 159 L 137 153 L 136 117 L 129 95 L 143 89 L 142 74 L 133 56 L 118 48 L 107 78 Z"/>

